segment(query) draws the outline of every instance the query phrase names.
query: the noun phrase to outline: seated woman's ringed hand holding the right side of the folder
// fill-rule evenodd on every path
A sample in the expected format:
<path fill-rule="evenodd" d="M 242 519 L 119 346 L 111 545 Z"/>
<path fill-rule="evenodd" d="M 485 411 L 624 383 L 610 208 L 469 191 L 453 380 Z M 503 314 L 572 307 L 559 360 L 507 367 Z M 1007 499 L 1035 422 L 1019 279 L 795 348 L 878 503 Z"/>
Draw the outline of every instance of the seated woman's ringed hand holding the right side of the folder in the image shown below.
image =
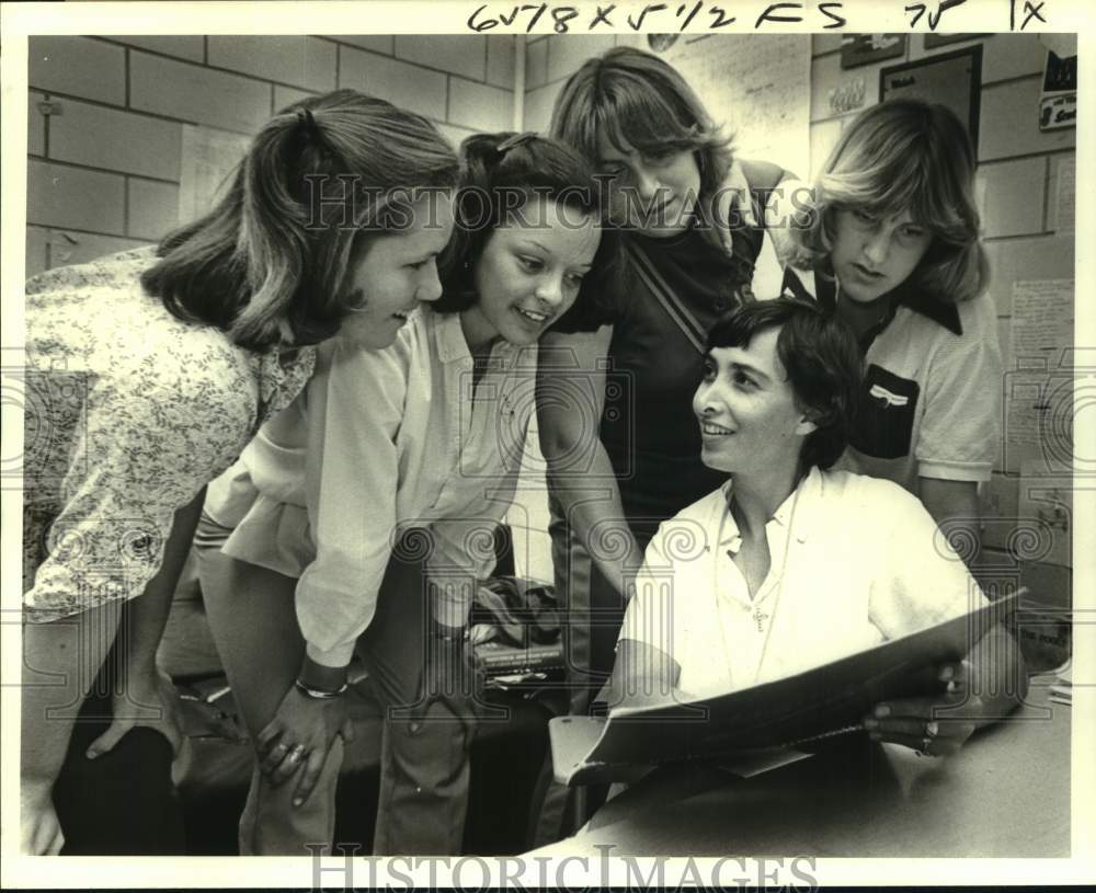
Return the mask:
<path fill-rule="evenodd" d="M 944 664 L 937 678 L 940 695 L 876 705 L 864 728 L 875 741 L 904 744 L 925 756 L 954 754 L 971 736 L 983 715 L 982 699 L 971 691 L 971 663 Z"/>

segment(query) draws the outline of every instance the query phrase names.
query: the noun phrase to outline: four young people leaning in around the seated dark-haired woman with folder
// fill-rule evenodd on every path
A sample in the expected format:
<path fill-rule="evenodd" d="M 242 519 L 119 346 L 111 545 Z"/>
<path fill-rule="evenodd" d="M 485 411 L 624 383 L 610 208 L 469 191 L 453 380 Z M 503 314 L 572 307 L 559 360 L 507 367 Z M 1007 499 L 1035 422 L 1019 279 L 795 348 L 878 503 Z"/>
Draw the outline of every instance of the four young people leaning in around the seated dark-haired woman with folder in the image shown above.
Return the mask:
<path fill-rule="evenodd" d="M 676 71 L 617 48 L 564 84 L 549 136 L 470 137 L 459 159 L 381 100 L 304 100 L 206 217 L 33 279 L 28 424 L 48 436 L 27 438 L 24 665 L 65 684 L 24 687 L 24 848 L 62 845 L 52 790 L 112 648 L 110 740 L 162 703 L 156 648 L 193 542 L 255 751 L 240 851 L 331 840 L 356 652 L 385 708 L 373 851 L 458 852 L 465 627 L 534 408 L 582 711 L 648 542 L 727 478 L 692 401 L 766 239 L 784 287 L 864 356 L 841 461 L 974 524 L 1000 357 L 973 169 L 950 112 L 884 103 L 845 128 L 809 219 L 766 232 L 791 175 L 735 159 Z"/>

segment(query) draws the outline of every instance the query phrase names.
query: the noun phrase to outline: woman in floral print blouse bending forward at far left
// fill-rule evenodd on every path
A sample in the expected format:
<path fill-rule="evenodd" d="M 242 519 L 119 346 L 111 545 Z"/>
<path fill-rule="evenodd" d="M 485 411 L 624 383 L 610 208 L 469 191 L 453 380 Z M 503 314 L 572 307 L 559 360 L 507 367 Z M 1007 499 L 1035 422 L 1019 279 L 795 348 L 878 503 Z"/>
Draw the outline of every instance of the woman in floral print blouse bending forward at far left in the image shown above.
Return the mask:
<path fill-rule="evenodd" d="M 205 484 L 296 397 L 313 345 L 392 341 L 393 313 L 434 281 L 406 264 L 448 236 L 400 205 L 416 186 L 447 194 L 457 171 L 424 118 L 352 90 L 312 96 L 259 131 L 202 219 L 27 283 L 24 851 L 64 843 L 67 749 L 69 764 L 99 757 L 135 724 L 178 746 L 170 722 L 139 718 L 170 710 L 155 655 Z M 114 691 L 113 720 L 73 736 L 112 644 L 124 675 L 95 689 Z M 128 843 L 118 851 L 162 851 Z"/>

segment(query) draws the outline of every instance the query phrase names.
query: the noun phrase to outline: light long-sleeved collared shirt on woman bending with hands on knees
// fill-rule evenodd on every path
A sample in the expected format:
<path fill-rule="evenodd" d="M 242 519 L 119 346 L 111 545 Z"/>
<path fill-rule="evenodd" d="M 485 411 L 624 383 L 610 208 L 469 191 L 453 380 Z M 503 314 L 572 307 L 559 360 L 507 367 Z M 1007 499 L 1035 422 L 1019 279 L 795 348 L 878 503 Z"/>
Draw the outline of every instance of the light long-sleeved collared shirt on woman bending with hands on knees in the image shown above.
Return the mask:
<path fill-rule="evenodd" d="M 312 660 L 350 661 L 392 549 L 412 528 L 431 534 L 434 616 L 466 621 L 516 486 L 536 362 L 536 345 L 500 341 L 473 387 L 459 316 L 429 309 L 383 351 L 336 339 L 301 397 L 210 485 L 206 512 L 236 528 L 225 552 L 299 577 Z"/>

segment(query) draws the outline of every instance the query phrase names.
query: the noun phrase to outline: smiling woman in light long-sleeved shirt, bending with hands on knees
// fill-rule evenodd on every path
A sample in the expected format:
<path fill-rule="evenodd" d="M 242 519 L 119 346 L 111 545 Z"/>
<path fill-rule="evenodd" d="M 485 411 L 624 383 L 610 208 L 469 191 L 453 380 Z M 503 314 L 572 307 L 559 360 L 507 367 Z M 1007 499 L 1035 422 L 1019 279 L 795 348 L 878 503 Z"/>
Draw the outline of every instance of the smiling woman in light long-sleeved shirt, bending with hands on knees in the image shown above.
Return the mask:
<path fill-rule="evenodd" d="M 601 241 L 595 183 L 571 149 L 478 135 L 463 154 L 454 239 L 419 295 L 433 304 L 385 350 L 334 340 L 209 490 L 202 586 L 255 746 L 242 854 L 331 842 L 355 650 L 385 711 L 373 854 L 460 851 L 465 626 L 516 486 L 537 341 Z"/>

